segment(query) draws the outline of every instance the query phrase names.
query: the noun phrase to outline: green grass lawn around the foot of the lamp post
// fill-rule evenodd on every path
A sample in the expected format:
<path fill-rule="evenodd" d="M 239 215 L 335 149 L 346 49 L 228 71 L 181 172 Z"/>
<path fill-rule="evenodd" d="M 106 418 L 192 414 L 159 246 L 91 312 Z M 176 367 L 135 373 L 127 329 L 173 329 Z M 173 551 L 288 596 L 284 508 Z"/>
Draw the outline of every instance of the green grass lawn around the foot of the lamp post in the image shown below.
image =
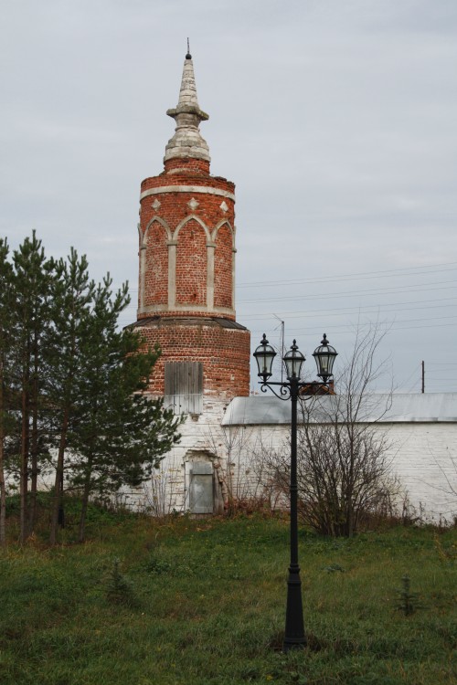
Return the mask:
<path fill-rule="evenodd" d="M 457 678 L 455 529 L 337 541 L 301 532 L 309 646 L 283 655 L 286 522 L 154 522 L 93 508 L 90 541 L 79 545 L 71 511 L 68 521 L 56 548 L 37 535 L 27 548 L 0 553 L 2 685 Z M 408 617 L 398 608 L 405 574 L 420 600 Z"/>

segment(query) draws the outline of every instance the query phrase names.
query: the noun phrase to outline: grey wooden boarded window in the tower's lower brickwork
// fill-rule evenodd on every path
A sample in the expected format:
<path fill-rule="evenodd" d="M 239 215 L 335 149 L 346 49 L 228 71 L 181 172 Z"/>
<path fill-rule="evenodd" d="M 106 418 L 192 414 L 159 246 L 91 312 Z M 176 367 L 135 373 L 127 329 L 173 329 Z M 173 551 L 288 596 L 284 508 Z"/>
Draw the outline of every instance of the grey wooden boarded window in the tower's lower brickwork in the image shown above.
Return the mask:
<path fill-rule="evenodd" d="M 201 414 L 203 411 L 203 364 L 165 362 L 166 407 L 175 414 Z"/>

